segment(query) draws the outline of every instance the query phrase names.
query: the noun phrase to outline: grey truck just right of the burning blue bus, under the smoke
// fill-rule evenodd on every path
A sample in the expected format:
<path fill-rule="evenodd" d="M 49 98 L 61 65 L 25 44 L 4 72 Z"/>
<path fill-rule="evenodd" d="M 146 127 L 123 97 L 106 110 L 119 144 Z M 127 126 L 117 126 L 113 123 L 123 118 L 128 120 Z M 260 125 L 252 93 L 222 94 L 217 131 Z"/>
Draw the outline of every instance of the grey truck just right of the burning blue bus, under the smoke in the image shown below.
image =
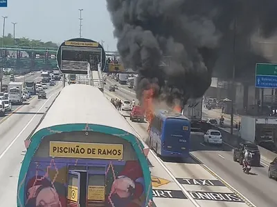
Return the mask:
<path fill-rule="evenodd" d="M 182 110 L 182 114 L 190 120 L 191 131 L 202 130 L 202 106 L 203 98 L 188 100 Z"/>

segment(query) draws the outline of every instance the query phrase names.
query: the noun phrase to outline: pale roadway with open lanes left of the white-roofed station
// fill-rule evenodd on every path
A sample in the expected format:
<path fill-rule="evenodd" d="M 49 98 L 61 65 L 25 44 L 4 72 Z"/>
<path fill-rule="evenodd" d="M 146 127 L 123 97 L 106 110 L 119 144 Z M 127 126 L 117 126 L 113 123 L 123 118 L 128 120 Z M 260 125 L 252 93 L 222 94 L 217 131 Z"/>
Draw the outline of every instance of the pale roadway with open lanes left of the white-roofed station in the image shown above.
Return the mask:
<path fill-rule="evenodd" d="M 24 140 L 39 123 L 61 88 L 62 83 L 47 90 L 48 99 L 35 97 L 0 124 L 1 206 L 17 206 L 17 181 L 26 152 Z"/>

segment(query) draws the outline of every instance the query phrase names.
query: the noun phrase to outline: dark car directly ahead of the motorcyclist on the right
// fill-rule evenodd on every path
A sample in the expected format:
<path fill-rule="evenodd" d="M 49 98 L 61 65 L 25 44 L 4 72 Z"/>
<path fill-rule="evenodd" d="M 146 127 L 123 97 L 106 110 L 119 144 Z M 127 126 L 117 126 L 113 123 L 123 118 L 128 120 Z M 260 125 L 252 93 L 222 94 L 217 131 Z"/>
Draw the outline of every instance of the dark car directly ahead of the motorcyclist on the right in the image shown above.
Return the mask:
<path fill-rule="evenodd" d="M 233 150 L 233 161 L 238 161 L 242 165 L 245 150 L 252 153 L 251 166 L 260 166 L 260 150 L 256 144 L 249 141 L 241 142 L 238 148 Z"/>

